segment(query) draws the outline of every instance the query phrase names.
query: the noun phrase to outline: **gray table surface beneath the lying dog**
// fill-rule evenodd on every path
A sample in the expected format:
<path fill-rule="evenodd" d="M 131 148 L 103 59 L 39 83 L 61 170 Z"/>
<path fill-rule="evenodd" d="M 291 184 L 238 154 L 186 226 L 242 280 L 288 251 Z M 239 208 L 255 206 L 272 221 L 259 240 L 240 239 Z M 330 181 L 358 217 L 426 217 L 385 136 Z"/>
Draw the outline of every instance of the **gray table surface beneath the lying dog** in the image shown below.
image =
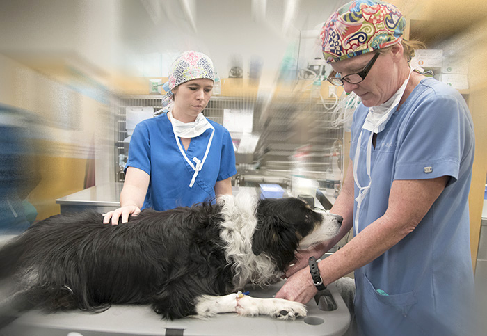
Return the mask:
<path fill-rule="evenodd" d="M 250 288 L 250 295 L 270 298 L 281 286 L 282 282 L 265 289 Z M 328 297 L 329 294 L 335 301 L 335 310 L 324 310 L 324 305 L 317 305 L 312 299 L 307 305 L 308 316 L 294 321 L 266 316 L 241 317 L 235 313 L 218 314 L 209 319 L 187 317 L 168 321 L 161 319 L 148 305 L 113 305 L 99 314 L 79 310 L 46 314 L 33 310 L 1 329 L 0 336 L 343 335 L 350 323 L 349 310 L 334 283 L 328 286 Z"/>

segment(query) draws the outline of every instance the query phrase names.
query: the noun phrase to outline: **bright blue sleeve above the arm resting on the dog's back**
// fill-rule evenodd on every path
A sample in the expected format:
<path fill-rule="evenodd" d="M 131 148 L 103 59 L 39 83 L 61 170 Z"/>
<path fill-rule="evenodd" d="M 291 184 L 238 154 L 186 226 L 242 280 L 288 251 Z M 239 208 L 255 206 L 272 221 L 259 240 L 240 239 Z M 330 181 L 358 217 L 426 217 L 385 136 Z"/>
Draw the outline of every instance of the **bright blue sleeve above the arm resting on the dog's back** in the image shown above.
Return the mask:
<path fill-rule="evenodd" d="M 136 125 L 130 139 L 129 159 L 125 165 L 125 172 L 129 167 L 141 169 L 150 175 L 150 136 L 143 122 Z"/>

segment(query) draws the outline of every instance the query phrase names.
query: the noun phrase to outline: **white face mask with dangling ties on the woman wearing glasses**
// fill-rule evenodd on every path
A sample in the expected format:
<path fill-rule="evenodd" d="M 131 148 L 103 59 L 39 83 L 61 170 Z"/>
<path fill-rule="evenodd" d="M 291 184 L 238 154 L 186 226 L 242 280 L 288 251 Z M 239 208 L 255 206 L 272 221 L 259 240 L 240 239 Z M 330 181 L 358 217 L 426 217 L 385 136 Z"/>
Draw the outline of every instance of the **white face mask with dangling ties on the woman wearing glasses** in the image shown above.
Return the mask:
<path fill-rule="evenodd" d="M 353 225 L 355 229 L 355 233 L 358 234 L 358 215 L 360 214 L 360 206 L 362 205 L 362 201 L 365 199 L 365 195 L 369 192 L 370 189 L 370 166 L 371 166 L 371 157 L 372 157 L 372 137 L 374 133 L 379 133 L 385 129 L 385 125 L 388 123 L 392 115 L 397 109 L 397 104 L 401 101 L 404 92 L 406 91 L 406 86 L 408 86 L 408 81 L 411 77 L 411 73 L 414 69 L 411 69 L 409 72 L 409 76 L 404 81 L 403 85 L 399 88 L 399 90 L 390 97 L 390 99 L 378 106 L 372 106 L 369 109 L 369 114 L 367 114 L 367 118 L 365 118 L 364 125 L 362 126 L 362 130 L 360 131 L 360 136 L 358 136 L 357 141 L 357 148 L 355 152 L 355 157 L 353 158 L 353 179 L 355 179 L 355 183 L 358 186 L 358 196 L 355 199 L 357 201 L 357 211 L 355 216 L 355 223 Z M 363 131 L 367 130 L 370 131 L 369 140 L 367 142 L 367 158 L 365 161 L 365 167 L 367 168 L 367 176 L 369 177 L 369 184 L 367 186 L 361 186 L 360 182 L 358 181 L 358 174 L 357 174 L 357 166 L 358 166 L 358 159 L 360 156 L 360 143 L 362 142 L 362 134 Z"/>

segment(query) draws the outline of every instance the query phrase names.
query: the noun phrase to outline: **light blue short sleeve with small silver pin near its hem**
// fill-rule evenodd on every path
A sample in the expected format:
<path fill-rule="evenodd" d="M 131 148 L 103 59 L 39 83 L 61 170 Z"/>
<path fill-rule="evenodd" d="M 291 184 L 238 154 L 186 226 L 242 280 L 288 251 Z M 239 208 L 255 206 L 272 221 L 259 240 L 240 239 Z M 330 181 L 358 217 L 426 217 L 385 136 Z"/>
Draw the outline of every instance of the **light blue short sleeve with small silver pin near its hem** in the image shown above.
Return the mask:
<path fill-rule="evenodd" d="M 436 95 L 410 113 L 398 134 L 394 179 L 458 179 L 468 113 L 458 97 Z"/>

